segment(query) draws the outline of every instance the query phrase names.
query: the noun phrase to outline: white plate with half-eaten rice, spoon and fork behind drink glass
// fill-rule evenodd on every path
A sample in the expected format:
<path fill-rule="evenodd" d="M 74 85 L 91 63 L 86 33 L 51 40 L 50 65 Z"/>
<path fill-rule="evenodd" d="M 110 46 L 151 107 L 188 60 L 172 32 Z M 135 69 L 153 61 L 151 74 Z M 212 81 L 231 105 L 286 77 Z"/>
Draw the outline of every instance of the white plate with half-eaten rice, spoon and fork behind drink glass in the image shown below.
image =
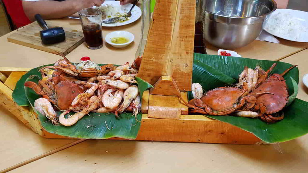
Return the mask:
<path fill-rule="evenodd" d="M 123 9 L 123 11 L 125 11 L 125 12 L 128 12 L 131 9 L 131 7 L 133 6 L 132 4 L 126 4 L 126 5 L 121 6 L 120 5 L 120 1 L 105 1 L 102 4 L 102 6 L 105 6 L 107 4 L 108 5 L 112 5 L 112 6 L 120 6 Z M 93 6 L 93 8 L 98 8 L 98 7 L 97 6 Z M 113 26 L 128 25 L 128 24 L 138 20 L 141 17 L 141 13 L 142 12 L 141 12 L 140 8 L 138 6 L 135 6 L 132 9 L 132 16 L 127 21 L 122 22 L 122 23 L 117 22 L 117 23 L 110 23 L 110 24 L 102 23 L 102 26 L 113 27 Z M 69 16 L 69 18 L 79 19 L 79 16 L 78 16 L 78 14 L 74 14 L 74 15 Z"/>

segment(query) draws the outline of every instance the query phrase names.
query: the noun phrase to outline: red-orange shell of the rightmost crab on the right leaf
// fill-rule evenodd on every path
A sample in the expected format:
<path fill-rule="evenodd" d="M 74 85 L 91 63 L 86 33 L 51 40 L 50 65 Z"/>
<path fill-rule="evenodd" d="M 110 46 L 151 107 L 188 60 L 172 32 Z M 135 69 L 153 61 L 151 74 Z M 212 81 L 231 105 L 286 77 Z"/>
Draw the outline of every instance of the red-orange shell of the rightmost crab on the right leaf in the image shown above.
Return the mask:
<path fill-rule="evenodd" d="M 280 74 L 269 76 L 265 82 L 258 86 L 253 92 L 267 91 L 273 94 L 263 94 L 257 97 L 256 105 L 263 103 L 266 114 L 274 114 L 288 103 L 288 87 L 285 79 Z"/>

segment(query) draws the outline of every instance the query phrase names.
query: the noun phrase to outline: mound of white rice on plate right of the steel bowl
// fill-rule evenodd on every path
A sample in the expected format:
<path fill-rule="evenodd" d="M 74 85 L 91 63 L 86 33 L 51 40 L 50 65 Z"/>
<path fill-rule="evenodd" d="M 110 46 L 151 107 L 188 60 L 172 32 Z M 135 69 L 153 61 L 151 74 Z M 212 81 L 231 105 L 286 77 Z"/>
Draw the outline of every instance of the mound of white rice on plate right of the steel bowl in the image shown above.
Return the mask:
<path fill-rule="evenodd" d="M 268 30 L 274 35 L 284 35 L 289 38 L 294 38 L 295 40 L 302 38 L 303 34 L 308 32 L 308 28 L 296 17 L 292 16 L 290 13 L 283 14 L 281 12 L 270 16 L 265 30 Z"/>

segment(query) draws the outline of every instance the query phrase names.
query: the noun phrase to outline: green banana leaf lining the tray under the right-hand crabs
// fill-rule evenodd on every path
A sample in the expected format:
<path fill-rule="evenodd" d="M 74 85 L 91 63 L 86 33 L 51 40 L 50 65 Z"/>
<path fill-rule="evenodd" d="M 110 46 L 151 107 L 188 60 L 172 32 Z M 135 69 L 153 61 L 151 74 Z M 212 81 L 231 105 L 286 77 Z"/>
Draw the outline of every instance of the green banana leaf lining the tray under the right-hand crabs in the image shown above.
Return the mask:
<path fill-rule="evenodd" d="M 194 61 L 200 61 L 213 69 L 228 75 L 238 81 L 239 74 L 244 70 L 245 66 L 254 68 L 261 65 L 264 70 L 276 62 L 277 66 L 272 73 L 282 73 L 292 65 L 279 61 L 256 60 L 249 58 L 227 57 L 218 55 L 194 54 Z M 193 73 L 199 75 L 198 73 Z M 195 78 L 195 77 L 193 77 Z M 308 102 L 296 99 L 298 92 L 298 68 L 290 70 L 284 78 L 288 85 L 289 99 L 294 100 L 289 106 L 282 109 L 284 119 L 274 124 L 267 124 L 260 119 L 251 119 L 245 117 L 234 116 L 210 116 L 216 119 L 237 126 L 245 131 L 251 132 L 266 143 L 279 143 L 295 139 L 308 133 Z M 293 93 L 293 94 L 292 94 Z M 295 99 L 294 99 L 295 98 Z M 291 100 L 291 101 L 292 101 Z"/>

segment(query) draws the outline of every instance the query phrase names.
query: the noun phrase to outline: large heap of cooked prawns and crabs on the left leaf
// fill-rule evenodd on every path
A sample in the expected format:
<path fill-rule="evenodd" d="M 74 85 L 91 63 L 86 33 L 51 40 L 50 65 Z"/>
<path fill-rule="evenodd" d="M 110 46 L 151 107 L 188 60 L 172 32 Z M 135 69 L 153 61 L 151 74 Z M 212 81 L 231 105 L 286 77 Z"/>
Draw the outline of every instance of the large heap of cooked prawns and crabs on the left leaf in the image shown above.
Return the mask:
<path fill-rule="evenodd" d="M 141 108 L 139 89 L 135 80 L 137 70 L 127 63 L 121 66 L 107 64 L 99 66 L 90 59 L 83 59 L 74 64 L 66 57 L 53 66 L 45 66 L 40 72 L 38 82 L 28 81 L 25 86 L 43 98 L 34 102 L 34 108 L 45 115 L 54 125 L 75 124 L 90 111 L 98 113 L 132 111 L 137 115 Z M 140 59 L 139 59 L 140 60 Z M 140 62 L 134 62 L 139 66 Z M 63 113 L 56 117 L 53 106 Z M 73 115 L 64 115 L 69 112 Z"/>

